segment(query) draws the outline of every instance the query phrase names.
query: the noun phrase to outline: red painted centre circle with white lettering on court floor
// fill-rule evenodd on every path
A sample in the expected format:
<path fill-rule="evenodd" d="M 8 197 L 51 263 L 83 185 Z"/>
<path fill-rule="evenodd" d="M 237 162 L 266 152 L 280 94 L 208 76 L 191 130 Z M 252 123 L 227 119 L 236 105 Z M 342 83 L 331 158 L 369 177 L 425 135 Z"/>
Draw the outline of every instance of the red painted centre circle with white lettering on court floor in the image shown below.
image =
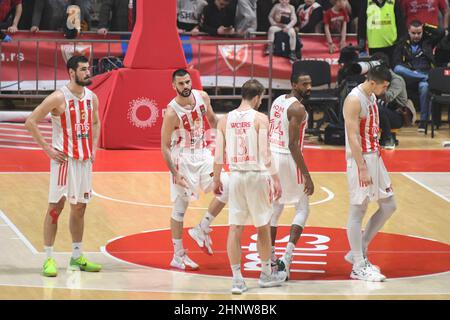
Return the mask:
<path fill-rule="evenodd" d="M 207 255 L 184 230 L 189 257 L 200 265 L 189 273 L 231 276 L 226 239 L 228 227 L 215 226 L 211 233 L 214 254 Z M 280 226 L 276 252 L 281 256 L 289 240 L 289 227 Z M 260 274 L 256 229 L 247 227 L 242 236 L 244 277 Z M 344 261 L 349 245 L 345 229 L 306 227 L 294 251 L 292 280 L 348 280 L 351 265 Z M 126 262 L 169 270 L 173 255 L 170 230 L 125 236 L 106 245 L 106 251 Z M 426 239 L 379 233 L 369 248 L 369 259 L 388 278 L 423 276 L 450 270 L 450 245 Z M 173 269 L 176 270 L 176 269 Z M 180 271 L 180 270 L 178 270 Z M 183 272 L 183 271 L 181 271 Z"/>

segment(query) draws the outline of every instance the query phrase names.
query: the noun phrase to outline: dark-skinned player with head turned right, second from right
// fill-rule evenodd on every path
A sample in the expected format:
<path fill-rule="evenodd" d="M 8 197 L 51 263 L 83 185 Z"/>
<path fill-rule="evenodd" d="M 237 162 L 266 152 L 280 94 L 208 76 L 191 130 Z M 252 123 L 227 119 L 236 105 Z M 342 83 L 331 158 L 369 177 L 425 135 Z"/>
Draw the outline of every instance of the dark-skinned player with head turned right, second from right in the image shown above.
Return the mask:
<path fill-rule="evenodd" d="M 285 204 L 295 204 L 289 242 L 279 261 L 280 270 L 286 270 L 288 277 L 292 253 L 309 215 L 309 196 L 314 193 L 314 183 L 302 154 L 308 113 L 301 101 L 311 94 L 311 77 L 305 73 L 293 74 L 291 84 L 291 93 L 279 96 L 272 104 L 269 130 L 270 150 L 283 190 L 281 198 L 272 206 L 272 264 L 277 263 L 275 239 L 281 212 Z"/>

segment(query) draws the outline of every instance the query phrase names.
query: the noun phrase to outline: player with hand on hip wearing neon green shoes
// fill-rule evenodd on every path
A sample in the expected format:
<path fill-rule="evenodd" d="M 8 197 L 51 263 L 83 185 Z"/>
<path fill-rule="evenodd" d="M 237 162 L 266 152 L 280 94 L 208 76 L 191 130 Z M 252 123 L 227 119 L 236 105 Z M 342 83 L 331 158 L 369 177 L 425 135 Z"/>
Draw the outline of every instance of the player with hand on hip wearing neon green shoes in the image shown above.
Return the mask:
<path fill-rule="evenodd" d="M 70 203 L 70 232 L 72 258 L 69 268 L 98 272 L 101 265 L 92 263 L 82 254 L 84 214 L 92 193 L 92 163 L 100 134 L 98 98 L 86 86 L 92 83 L 89 60 L 73 56 L 67 61 L 70 76 L 68 85 L 56 90 L 37 106 L 25 126 L 42 147 L 50 161 L 49 206 L 44 221 L 44 245 L 47 259 L 43 275 L 58 274 L 53 258 L 53 244 L 58 218 L 64 203 Z M 38 123 L 51 113 L 52 144 L 43 138 Z"/>

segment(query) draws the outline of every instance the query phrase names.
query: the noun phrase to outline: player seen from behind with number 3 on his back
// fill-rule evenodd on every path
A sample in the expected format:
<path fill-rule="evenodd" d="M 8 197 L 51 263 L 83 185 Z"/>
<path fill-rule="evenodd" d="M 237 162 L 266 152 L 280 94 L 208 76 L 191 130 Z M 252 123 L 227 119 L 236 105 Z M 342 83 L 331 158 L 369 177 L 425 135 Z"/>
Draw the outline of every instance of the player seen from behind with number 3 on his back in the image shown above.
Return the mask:
<path fill-rule="evenodd" d="M 270 265 L 271 202 L 272 195 L 275 199 L 281 196 L 281 186 L 272 166 L 268 147 L 269 121 L 266 115 L 256 111 L 261 105 L 263 94 L 264 87 L 257 80 L 244 83 L 240 106 L 221 118 L 217 126 L 215 194 L 223 192 L 220 172 L 225 160 L 225 150 L 231 172 L 227 252 L 233 272 L 233 294 L 241 294 L 247 290 L 241 274 L 241 236 L 250 217 L 258 232 L 257 245 L 261 259 L 259 286 L 278 286 L 286 279 L 284 271 L 272 270 Z"/>

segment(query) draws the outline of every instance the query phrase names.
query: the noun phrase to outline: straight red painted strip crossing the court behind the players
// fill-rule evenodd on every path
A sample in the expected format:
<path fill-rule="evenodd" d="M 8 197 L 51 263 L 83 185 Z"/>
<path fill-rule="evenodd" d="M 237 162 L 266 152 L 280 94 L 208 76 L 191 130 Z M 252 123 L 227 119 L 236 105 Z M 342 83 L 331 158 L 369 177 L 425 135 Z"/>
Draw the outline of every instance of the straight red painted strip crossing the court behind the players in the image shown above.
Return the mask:
<path fill-rule="evenodd" d="M 305 149 L 310 171 L 345 172 L 344 150 Z M 391 172 L 450 172 L 450 150 L 382 151 Z M 49 171 L 50 162 L 41 150 L 0 150 L 0 171 Z M 95 171 L 167 171 L 161 152 L 157 150 L 99 150 Z"/>

